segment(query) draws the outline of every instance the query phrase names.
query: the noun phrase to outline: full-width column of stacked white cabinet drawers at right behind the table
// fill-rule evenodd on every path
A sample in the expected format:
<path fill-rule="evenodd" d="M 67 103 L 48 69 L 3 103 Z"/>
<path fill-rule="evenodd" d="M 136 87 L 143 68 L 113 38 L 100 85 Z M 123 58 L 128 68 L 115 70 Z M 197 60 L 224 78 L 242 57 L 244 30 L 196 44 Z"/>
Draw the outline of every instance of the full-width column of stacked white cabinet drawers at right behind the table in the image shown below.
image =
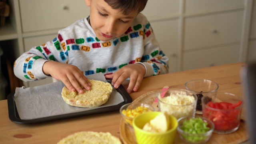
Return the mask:
<path fill-rule="evenodd" d="M 179 70 L 241 61 L 246 0 L 183 2 L 184 35 Z"/>

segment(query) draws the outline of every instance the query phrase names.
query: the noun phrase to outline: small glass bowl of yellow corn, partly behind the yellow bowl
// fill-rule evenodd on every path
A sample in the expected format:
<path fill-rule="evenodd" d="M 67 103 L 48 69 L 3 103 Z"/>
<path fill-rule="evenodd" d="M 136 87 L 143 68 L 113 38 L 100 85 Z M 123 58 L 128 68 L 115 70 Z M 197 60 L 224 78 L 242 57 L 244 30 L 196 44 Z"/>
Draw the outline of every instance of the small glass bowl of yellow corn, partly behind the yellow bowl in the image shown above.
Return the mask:
<path fill-rule="evenodd" d="M 128 126 L 132 127 L 133 118 L 135 118 L 139 114 L 142 114 L 145 112 L 154 112 L 156 110 L 153 106 L 149 104 L 137 102 L 137 103 L 124 104 L 119 111 L 122 118 L 124 119 L 124 122 L 128 124 Z"/>

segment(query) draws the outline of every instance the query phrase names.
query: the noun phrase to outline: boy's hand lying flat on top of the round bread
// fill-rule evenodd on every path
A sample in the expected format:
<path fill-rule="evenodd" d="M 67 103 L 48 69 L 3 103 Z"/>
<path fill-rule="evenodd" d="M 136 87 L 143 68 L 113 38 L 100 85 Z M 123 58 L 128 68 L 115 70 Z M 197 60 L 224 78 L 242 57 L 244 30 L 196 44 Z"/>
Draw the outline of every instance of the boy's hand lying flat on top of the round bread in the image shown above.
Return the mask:
<path fill-rule="evenodd" d="M 83 72 L 74 65 L 47 61 L 44 63 L 43 72 L 57 80 L 61 80 L 72 92 L 77 90 L 77 92 L 81 94 L 84 93 L 80 85 L 86 90 L 91 89 L 91 84 L 88 82 L 88 79 L 84 76 Z"/>

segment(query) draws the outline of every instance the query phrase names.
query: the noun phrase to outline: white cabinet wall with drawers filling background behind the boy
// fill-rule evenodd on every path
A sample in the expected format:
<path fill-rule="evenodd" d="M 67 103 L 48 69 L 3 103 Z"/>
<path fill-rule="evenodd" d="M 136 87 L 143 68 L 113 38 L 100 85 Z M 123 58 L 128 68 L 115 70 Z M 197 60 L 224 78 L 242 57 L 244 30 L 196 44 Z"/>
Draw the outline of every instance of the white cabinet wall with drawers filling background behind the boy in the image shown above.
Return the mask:
<path fill-rule="evenodd" d="M 90 12 L 84 0 L 8 2 L 12 11 L 6 26 L 0 28 L 0 41 L 13 44 L 13 59 L 52 40 L 58 30 Z M 256 60 L 253 0 L 148 0 L 142 13 L 170 58 L 169 72 Z M 25 84 L 49 82 L 51 78 Z"/>

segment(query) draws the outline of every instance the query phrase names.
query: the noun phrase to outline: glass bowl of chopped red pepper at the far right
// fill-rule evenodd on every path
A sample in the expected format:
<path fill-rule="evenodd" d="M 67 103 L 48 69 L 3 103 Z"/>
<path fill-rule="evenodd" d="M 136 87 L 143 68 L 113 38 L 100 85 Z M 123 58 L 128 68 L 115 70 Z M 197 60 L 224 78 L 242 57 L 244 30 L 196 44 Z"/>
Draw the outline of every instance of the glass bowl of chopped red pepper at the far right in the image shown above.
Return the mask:
<path fill-rule="evenodd" d="M 214 123 L 214 132 L 229 134 L 240 126 L 243 100 L 235 94 L 217 92 L 202 98 L 203 117 Z"/>

